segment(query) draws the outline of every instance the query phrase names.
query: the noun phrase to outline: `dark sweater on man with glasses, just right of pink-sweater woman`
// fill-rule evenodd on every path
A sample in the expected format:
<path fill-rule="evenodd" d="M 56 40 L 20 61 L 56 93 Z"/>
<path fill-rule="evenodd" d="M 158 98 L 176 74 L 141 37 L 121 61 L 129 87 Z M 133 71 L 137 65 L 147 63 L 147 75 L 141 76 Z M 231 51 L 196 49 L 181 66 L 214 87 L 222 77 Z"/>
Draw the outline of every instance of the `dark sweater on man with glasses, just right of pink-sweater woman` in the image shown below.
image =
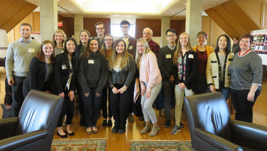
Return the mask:
<path fill-rule="evenodd" d="M 171 75 L 174 75 L 173 70 L 173 53 L 175 52 L 176 47 L 171 50 L 168 45 L 160 49 L 159 55 L 159 69 L 163 73 L 162 81 L 170 81 Z"/>

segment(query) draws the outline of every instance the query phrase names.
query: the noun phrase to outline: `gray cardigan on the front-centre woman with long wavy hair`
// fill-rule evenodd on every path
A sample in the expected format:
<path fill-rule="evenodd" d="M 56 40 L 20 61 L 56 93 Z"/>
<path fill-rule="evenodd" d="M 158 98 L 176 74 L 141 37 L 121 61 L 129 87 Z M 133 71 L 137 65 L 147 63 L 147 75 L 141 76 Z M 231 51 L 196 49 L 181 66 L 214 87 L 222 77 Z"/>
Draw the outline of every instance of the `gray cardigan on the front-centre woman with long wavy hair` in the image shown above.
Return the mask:
<path fill-rule="evenodd" d="M 114 86 L 114 84 L 121 84 L 126 87 L 129 87 L 131 82 L 135 80 L 136 73 L 136 63 L 132 57 L 128 57 L 129 65 L 126 66 L 126 69 L 116 72 L 113 68 L 108 71 L 108 84 L 109 86 Z"/>

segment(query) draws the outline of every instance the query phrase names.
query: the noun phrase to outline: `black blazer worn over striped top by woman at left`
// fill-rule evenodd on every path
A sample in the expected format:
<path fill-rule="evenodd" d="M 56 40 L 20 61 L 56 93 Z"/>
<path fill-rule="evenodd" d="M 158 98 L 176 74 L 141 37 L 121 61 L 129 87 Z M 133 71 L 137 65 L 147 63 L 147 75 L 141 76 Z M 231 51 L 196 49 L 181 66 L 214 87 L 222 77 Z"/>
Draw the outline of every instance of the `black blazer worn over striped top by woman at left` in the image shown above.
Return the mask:
<path fill-rule="evenodd" d="M 31 90 L 49 91 L 48 84 L 46 83 L 45 85 L 44 82 L 45 75 L 46 75 L 45 63 L 41 62 L 37 57 L 33 57 L 30 62 L 28 77 L 23 81 L 23 85 L 29 88 L 30 91 Z"/>

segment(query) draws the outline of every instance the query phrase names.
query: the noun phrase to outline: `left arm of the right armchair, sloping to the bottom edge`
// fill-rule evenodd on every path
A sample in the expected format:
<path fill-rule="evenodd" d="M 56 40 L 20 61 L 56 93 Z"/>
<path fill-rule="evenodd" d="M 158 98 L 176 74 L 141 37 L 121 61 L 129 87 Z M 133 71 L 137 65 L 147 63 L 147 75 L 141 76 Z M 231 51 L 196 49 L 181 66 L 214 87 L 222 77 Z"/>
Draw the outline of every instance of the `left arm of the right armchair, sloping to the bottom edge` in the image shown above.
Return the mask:
<path fill-rule="evenodd" d="M 196 127 L 194 129 L 194 134 L 196 137 L 202 139 L 203 141 L 207 142 L 208 144 L 212 145 L 213 147 L 217 148 L 218 150 L 236 150 L 241 151 L 243 150 L 240 146 L 237 144 L 224 139 L 218 135 L 215 135 L 213 133 L 210 133 L 202 128 Z"/>

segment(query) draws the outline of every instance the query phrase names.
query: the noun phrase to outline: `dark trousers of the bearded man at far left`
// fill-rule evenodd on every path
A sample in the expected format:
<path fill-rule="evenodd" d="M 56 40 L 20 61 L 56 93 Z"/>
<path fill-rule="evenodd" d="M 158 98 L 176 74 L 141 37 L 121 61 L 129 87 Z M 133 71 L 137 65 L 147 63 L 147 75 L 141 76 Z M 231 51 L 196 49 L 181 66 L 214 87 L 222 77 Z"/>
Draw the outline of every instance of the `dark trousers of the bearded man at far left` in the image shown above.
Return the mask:
<path fill-rule="evenodd" d="M 20 109 L 24 101 L 23 96 L 23 81 L 27 77 L 18 77 L 13 74 L 14 83 L 12 87 L 12 105 L 11 105 L 11 116 L 19 117 Z"/>

